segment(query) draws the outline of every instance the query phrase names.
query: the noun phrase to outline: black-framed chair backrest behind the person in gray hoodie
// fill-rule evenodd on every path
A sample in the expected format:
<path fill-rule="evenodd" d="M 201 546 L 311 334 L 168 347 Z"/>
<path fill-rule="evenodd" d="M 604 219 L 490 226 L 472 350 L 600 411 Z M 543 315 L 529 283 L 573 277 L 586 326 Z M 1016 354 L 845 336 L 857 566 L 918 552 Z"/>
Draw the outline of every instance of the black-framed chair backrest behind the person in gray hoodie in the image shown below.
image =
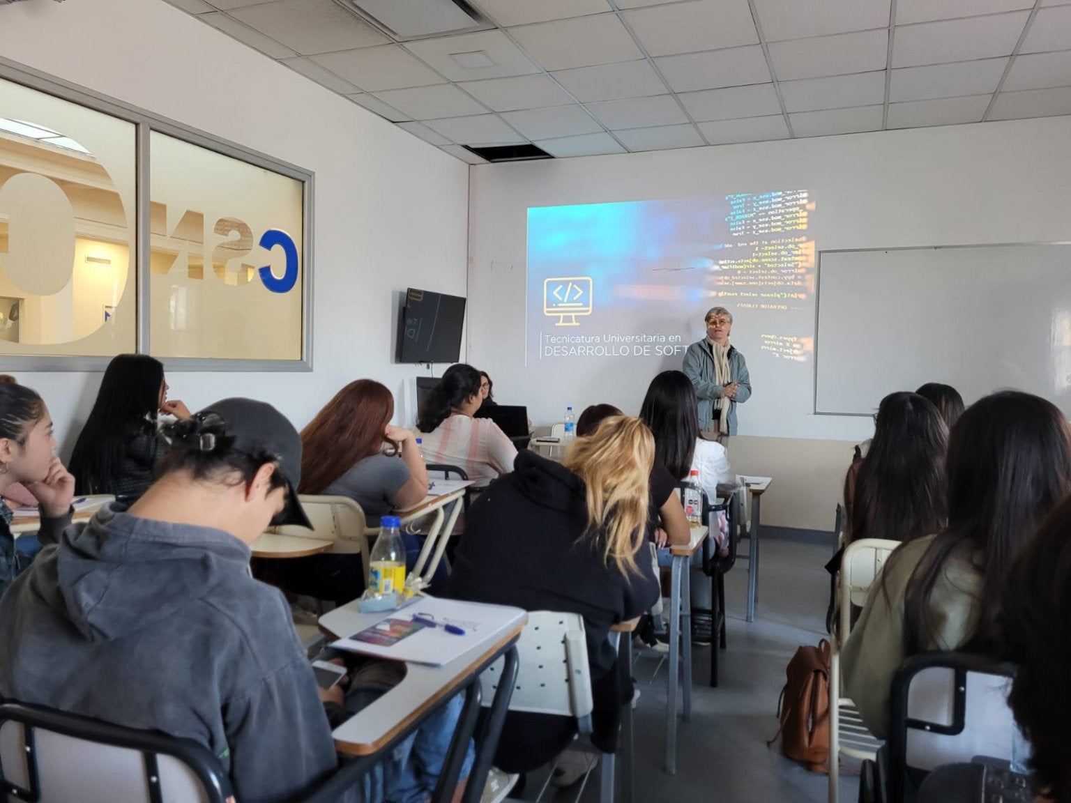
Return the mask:
<path fill-rule="evenodd" d="M 230 797 L 226 773 L 203 745 L 17 702 L 0 704 L 0 773 L 4 801 L 224 803 Z"/>

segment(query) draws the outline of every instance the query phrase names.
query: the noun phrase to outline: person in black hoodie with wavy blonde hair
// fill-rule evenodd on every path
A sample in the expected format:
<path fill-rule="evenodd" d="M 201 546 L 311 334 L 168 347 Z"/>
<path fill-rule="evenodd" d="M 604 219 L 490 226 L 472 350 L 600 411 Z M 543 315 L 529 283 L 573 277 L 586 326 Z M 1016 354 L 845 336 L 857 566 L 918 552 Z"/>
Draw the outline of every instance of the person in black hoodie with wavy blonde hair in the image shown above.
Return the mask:
<path fill-rule="evenodd" d="M 616 745 L 621 706 L 632 698 L 628 667 L 607 640 L 616 622 L 654 604 L 659 584 L 646 549 L 650 429 L 627 415 L 578 438 L 559 465 L 524 451 L 513 472 L 472 503 L 447 593 L 459 600 L 559 610 L 584 617 L 594 696 L 593 741 Z M 510 712 L 495 766 L 527 772 L 572 740 L 569 717 Z"/>

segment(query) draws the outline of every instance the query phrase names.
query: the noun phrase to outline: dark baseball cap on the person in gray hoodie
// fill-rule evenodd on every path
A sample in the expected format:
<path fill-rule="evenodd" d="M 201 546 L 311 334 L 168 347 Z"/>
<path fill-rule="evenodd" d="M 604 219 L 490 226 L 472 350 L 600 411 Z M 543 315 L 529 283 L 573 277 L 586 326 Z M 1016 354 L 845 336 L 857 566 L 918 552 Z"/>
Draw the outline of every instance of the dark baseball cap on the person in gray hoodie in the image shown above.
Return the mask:
<path fill-rule="evenodd" d="M 252 398 L 224 398 L 209 405 L 198 416 L 214 414 L 223 420 L 224 437 L 233 438 L 231 449 L 246 454 L 268 452 L 278 464 L 286 480 L 286 507 L 275 518 L 276 524 L 300 525 L 313 529 L 298 501 L 301 484 L 301 436 L 287 418 L 267 402 Z"/>

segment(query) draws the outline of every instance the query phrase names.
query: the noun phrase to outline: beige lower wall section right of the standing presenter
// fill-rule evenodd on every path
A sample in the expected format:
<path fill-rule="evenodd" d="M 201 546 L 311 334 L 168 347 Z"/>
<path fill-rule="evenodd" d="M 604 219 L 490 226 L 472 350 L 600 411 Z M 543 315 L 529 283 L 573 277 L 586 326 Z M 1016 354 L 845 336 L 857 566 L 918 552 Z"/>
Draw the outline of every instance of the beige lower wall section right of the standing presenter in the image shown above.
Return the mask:
<path fill-rule="evenodd" d="M 729 463 L 739 474 L 772 476 L 763 524 L 832 533 L 856 441 L 737 436 Z"/>

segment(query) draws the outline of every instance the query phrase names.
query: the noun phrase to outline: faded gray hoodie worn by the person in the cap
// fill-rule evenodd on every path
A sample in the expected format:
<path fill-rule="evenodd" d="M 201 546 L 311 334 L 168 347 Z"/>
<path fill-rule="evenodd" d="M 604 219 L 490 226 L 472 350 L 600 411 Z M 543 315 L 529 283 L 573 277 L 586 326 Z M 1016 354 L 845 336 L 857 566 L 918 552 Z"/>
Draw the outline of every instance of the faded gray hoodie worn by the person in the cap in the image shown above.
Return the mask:
<path fill-rule="evenodd" d="M 283 801 L 336 768 L 283 594 L 206 527 L 100 511 L 0 601 L 0 696 L 207 745 L 240 803 Z"/>

